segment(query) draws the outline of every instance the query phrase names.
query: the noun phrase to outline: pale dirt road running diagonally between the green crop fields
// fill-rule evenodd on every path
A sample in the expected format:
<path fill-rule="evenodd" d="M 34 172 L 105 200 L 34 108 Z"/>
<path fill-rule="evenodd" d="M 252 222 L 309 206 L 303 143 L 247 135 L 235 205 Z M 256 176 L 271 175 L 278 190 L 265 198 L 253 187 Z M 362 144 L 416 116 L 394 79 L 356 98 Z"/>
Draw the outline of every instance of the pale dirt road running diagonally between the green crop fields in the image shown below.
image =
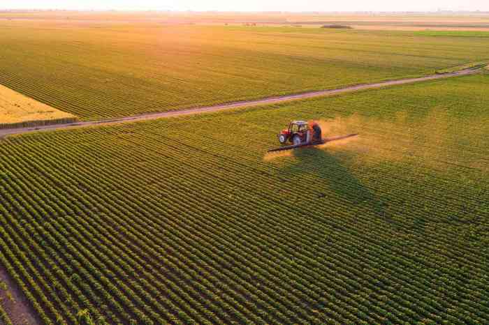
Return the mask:
<path fill-rule="evenodd" d="M 309 91 L 305 93 L 295 93 L 295 94 L 284 95 L 284 96 L 272 96 L 267 98 L 261 98 L 258 100 L 243 100 L 239 102 L 232 102 L 226 104 L 194 107 L 189 109 L 180 109 L 180 110 L 160 112 L 160 113 L 147 113 L 147 114 L 140 114 L 136 116 L 120 117 L 115 119 L 101 119 L 96 121 L 80 121 L 74 123 L 52 124 L 46 126 L 32 126 L 27 128 L 2 129 L 0 130 L 0 139 L 6 137 L 7 135 L 20 135 L 20 134 L 31 133 L 36 131 L 59 130 L 59 129 L 68 129 L 68 128 L 83 128 L 87 126 L 110 125 L 115 123 L 127 123 L 127 122 L 145 121 L 145 120 L 152 120 L 152 119 L 163 119 L 167 117 L 201 114 L 207 112 L 217 112 L 225 109 L 233 109 L 236 107 L 250 107 L 250 106 L 257 106 L 257 105 L 283 103 L 290 100 L 301 100 L 306 98 L 333 96 L 341 93 L 351 93 L 353 91 L 361 91 L 366 89 L 378 89 L 386 86 L 395 86 L 398 84 L 413 84 L 415 82 L 423 82 L 428 80 L 445 79 L 449 77 L 458 77 L 461 75 L 472 75 L 474 73 L 479 73 L 480 71 L 481 71 L 480 68 L 476 68 L 476 69 L 469 68 L 466 70 L 456 71 L 454 73 L 427 75 L 425 77 L 416 77 L 416 78 L 408 78 L 408 79 L 400 79 L 400 80 L 388 80 L 385 82 L 377 82 L 373 84 L 357 84 L 353 86 L 345 86 L 343 88 L 338 88 L 338 89 Z"/>

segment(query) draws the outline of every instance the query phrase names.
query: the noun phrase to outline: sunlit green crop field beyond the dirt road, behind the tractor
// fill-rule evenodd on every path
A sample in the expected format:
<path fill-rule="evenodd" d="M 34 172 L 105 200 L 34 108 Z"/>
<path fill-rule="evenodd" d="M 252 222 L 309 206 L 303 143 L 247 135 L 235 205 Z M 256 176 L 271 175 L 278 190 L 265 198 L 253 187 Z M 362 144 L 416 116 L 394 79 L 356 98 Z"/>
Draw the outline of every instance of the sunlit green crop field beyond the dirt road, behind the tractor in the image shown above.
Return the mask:
<path fill-rule="evenodd" d="M 484 37 L 102 18 L 0 20 L 0 84 L 99 119 L 413 77 L 489 59 Z"/>

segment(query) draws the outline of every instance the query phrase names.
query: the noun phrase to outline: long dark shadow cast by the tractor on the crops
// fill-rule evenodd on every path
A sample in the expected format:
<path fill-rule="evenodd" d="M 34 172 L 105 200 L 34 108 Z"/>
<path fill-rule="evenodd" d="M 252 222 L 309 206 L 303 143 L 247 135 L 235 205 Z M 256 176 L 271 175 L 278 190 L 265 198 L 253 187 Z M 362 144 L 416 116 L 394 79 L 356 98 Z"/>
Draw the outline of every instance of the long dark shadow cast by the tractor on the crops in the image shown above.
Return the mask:
<path fill-rule="evenodd" d="M 328 149 L 306 148 L 293 151 L 295 162 L 282 170 L 285 174 L 314 175 L 325 190 L 333 191 L 362 209 L 370 209 L 377 216 L 388 219 L 386 204 L 370 188 L 365 186 L 348 167 L 347 154 L 341 157 Z M 317 192 L 317 199 L 327 197 L 325 192 Z"/>

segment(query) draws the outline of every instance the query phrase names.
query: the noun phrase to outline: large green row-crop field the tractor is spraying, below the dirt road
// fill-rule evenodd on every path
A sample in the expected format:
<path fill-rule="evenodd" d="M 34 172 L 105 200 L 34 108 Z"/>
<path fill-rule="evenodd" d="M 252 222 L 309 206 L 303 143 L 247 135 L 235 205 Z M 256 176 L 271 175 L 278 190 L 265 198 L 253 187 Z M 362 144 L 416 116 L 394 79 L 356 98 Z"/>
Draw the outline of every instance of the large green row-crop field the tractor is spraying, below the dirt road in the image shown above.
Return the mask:
<path fill-rule="evenodd" d="M 488 324 L 488 90 L 10 137 L 0 262 L 45 324 Z M 265 155 L 294 118 L 360 135 Z"/>

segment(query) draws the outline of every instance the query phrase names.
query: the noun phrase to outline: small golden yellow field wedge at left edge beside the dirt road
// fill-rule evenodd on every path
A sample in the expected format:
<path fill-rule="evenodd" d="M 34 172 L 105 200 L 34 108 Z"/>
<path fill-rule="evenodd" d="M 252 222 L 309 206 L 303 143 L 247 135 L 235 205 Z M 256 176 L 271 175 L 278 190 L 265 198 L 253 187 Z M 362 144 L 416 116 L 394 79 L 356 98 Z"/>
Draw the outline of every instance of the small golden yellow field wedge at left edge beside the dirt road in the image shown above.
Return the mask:
<path fill-rule="evenodd" d="M 76 121 L 72 114 L 61 112 L 0 85 L 0 128 L 21 128 Z"/>

